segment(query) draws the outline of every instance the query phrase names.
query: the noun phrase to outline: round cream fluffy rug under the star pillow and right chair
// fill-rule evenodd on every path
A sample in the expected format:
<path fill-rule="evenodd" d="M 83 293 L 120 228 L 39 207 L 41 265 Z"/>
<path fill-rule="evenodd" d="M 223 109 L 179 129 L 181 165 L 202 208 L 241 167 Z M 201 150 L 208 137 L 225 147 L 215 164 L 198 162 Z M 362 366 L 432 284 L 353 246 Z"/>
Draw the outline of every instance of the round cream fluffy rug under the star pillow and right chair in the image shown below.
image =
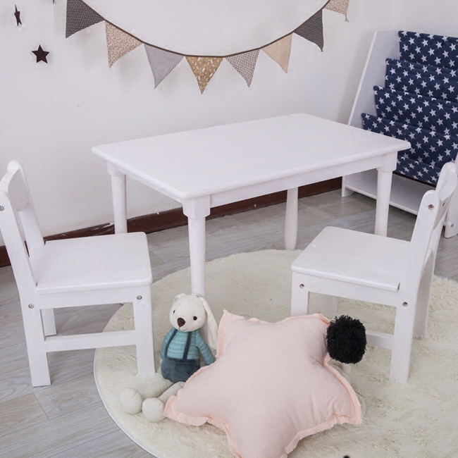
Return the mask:
<path fill-rule="evenodd" d="M 206 299 L 219 321 L 223 310 L 275 322 L 289 316 L 292 261 L 299 251 L 242 253 L 206 264 Z M 173 297 L 190 293 L 190 271 L 173 273 L 151 287 L 156 367 L 159 349 L 171 325 Z M 311 300 L 318 311 L 319 297 Z M 392 332 L 395 309 L 340 299 L 338 314 L 359 318 L 366 328 Z M 458 457 L 458 284 L 434 278 L 428 330 L 415 339 L 409 383 L 388 380 L 391 352 L 368 347 L 352 366 L 350 382 L 366 401 L 361 426 L 336 425 L 299 442 L 289 458 Z M 133 326 L 132 306 L 125 304 L 105 330 Z M 120 409 L 118 392 L 140 392 L 156 376 L 136 374 L 134 347 L 97 349 L 94 376 L 101 399 L 118 426 L 140 447 L 158 458 L 230 458 L 225 433 L 215 426 L 187 426 L 169 419 L 150 423 L 142 413 Z"/>

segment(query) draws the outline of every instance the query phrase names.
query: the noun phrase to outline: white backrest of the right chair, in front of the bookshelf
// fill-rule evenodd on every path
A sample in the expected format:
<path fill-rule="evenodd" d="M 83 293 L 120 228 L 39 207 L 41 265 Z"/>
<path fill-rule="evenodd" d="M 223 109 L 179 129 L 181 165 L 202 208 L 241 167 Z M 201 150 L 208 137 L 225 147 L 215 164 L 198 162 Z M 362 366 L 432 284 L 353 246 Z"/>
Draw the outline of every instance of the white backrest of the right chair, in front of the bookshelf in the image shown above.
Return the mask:
<path fill-rule="evenodd" d="M 429 256 L 435 259 L 445 215 L 457 182 L 457 166 L 453 162 L 446 163 L 440 171 L 435 190 L 423 195 L 401 283 L 408 280 L 419 285 Z"/>

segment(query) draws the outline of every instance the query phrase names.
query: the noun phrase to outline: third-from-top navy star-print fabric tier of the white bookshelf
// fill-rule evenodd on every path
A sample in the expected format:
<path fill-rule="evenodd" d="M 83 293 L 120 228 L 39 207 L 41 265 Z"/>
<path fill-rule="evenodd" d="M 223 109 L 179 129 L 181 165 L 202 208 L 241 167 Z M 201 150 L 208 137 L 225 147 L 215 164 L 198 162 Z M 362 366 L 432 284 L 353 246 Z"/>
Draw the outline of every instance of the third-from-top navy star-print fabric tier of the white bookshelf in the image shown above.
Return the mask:
<path fill-rule="evenodd" d="M 458 104 L 374 86 L 380 118 L 458 137 Z"/>

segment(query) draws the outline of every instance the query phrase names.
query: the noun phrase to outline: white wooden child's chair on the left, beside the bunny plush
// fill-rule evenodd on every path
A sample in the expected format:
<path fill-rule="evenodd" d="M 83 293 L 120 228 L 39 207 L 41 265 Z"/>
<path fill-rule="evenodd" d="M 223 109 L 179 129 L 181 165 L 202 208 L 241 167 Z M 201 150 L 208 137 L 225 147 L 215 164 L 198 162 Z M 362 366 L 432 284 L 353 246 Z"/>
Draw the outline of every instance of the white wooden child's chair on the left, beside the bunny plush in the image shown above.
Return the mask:
<path fill-rule="evenodd" d="M 0 230 L 18 285 L 33 386 L 51 384 L 47 353 L 70 349 L 136 345 L 138 372 L 154 373 L 152 276 L 144 233 L 45 243 L 16 161 L 0 181 Z M 125 302 L 133 303 L 135 330 L 56 335 L 53 309 Z"/>

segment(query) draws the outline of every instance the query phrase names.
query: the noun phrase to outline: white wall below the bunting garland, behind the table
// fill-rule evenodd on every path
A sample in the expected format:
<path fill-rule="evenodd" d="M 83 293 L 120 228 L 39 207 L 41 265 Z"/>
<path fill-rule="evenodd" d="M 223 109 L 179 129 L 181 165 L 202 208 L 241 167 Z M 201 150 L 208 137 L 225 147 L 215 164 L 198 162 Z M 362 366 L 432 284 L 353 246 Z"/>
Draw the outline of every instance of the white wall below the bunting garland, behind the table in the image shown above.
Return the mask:
<path fill-rule="evenodd" d="M 109 68 L 103 23 L 66 39 L 65 0 L 54 6 L 51 0 L 17 2 L 22 27 L 16 27 L 14 2 L 4 0 L 0 175 L 11 159 L 23 163 L 44 235 L 112 221 L 109 175 L 91 154 L 94 144 L 299 111 L 345 123 L 373 32 L 393 23 L 401 27 L 404 16 L 415 28 L 409 5 L 418 3 L 350 0 L 348 23 L 342 15 L 324 11 L 323 53 L 295 35 L 287 74 L 261 52 L 250 88 L 223 61 L 200 94 L 185 60 L 154 89 L 143 47 Z M 426 0 L 421 3 L 423 11 L 430 8 Z M 438 22 L 451 3 L 437 3 Z M 452 15 L 448 20 L 452 29 Z M 35 63 L 31 51 L 38 44 L 51 52 L 48 64 Z M 129 217 L 176 206 L 128 182 Z"/>

